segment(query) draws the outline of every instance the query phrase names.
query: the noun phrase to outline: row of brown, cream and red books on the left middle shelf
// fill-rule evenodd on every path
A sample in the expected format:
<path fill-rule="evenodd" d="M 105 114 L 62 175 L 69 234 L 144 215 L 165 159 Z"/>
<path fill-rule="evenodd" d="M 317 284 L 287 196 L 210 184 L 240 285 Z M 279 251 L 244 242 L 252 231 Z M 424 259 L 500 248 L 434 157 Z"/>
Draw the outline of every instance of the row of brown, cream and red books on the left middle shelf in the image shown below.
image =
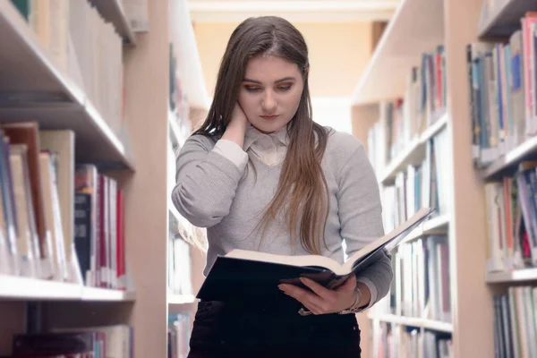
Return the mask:
<path fill-rule="evenodd" d="M 123 192 L 76 165 L 74 133 L 0 126 L 0 273 L 126 288 Z"/>

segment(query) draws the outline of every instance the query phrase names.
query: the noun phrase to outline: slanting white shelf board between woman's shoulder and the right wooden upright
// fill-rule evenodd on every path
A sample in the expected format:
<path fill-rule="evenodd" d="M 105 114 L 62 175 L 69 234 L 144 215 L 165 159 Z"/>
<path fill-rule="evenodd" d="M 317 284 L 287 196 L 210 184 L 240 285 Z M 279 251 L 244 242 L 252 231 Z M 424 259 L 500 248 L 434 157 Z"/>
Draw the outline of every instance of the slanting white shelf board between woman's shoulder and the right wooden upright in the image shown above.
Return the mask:
<path fill-rule="evenodd" d="M 441 115 L 434 124 L 431 124 L 429 128 L 422 132 L 422 135 L 419 138 L 411 141 L 406 148 L 394 158 L 388 166 L 386 166 L 382 175 L 379 176 L 379 183 L 393 183 L 396 180 L 397 173 L 405 169 L 406 166 L 422 163 L 423 158 L 425 158 L 427 141 L 446 127 L 448 118 L 447 114 Z"/>

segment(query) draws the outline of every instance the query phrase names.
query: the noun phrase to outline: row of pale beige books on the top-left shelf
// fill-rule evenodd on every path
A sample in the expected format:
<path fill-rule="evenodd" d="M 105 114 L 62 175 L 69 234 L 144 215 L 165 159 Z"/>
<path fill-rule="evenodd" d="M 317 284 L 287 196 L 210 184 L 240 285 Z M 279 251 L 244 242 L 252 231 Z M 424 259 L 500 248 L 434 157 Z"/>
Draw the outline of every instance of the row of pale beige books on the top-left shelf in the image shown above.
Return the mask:
<path fill-rule="evenodd" d="M 46 52 L 55 70 L 81 90 L 82 105 L 90 102 L 120 136 L 124 126 L 123 40 L 114 25 L 88 0 L 11 2 L 36 34 L 38 48 Z M 28 93 L 8 95 L 17 105 L 32 100 Z"/>

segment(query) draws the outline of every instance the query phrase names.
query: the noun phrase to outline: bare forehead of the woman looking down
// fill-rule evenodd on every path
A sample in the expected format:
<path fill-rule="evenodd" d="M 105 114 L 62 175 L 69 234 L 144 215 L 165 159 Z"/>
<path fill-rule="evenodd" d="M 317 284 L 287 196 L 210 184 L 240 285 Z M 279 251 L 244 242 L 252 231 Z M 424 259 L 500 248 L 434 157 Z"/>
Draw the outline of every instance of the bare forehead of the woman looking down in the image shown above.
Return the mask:
<path fill-rule="evenodd" d="M 274 55 L 251 58 L 244 72 L 244 77 L 262 82 L 277 81 L 284 77 L 299 78 L 299 76 L 300 71 L 296 64 Z"/>

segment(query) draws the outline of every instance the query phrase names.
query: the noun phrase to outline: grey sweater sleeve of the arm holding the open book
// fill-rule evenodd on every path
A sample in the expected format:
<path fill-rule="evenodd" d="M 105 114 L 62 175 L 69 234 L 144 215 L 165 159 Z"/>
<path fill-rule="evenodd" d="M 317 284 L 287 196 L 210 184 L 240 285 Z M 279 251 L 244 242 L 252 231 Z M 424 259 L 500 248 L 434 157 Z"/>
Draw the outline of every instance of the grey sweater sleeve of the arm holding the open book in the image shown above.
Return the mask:
<path fill-rule="evenodd" d="M 346 161 L 338 177 L 337 204 L 341 235 L 346 254 L 351 256 L 384 234 L 379 185 L 362 143 Z M 377 260 L 358 274 L 371 291 L 370 308 L 388 294 L 393 271 L 388 251 L 379 251 Z"/>

